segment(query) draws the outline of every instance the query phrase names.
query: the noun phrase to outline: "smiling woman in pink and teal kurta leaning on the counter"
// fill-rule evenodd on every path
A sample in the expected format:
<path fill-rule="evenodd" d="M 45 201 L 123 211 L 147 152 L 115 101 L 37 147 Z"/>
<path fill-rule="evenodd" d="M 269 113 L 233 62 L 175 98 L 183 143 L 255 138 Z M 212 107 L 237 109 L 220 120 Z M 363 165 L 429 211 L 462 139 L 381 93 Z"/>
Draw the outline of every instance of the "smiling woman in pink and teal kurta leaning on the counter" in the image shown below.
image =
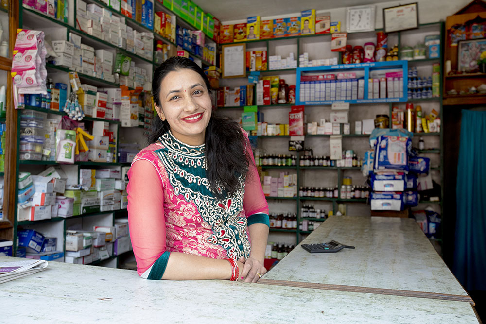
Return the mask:
<path fill-rule="evenodd" d="M 189 59 L 156 68 L 152 92 L 152 144 L 128 172 L 139 275 L 257 282 L 266 272 L 268 205 L 246 133 L 212 116 L 208 78 Z"/>

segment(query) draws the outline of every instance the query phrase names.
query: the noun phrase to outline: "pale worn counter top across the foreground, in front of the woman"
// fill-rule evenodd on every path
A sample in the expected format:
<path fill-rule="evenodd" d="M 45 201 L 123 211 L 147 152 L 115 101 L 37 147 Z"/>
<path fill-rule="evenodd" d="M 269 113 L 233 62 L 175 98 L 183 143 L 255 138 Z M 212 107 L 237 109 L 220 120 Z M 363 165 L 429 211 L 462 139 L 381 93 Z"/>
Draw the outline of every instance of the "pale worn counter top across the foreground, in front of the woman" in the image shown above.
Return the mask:
<path fill-rule="evenodd" d="M 14 260 L 0 256 L 0 262 Z M 224 280 L 155 281 L 135 271 L 60 262 L 0 284 L 0 301 L 5 323 L 478 323 L 466 302 Z"/>

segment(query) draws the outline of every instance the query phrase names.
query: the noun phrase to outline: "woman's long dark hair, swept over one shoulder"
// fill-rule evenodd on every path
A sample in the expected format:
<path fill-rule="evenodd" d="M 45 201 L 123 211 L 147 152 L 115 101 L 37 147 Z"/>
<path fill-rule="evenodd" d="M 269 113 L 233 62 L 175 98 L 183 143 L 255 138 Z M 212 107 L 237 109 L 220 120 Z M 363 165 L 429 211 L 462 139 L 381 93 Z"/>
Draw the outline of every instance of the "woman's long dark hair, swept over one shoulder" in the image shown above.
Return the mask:
<path fill-rule="evenodd" d="M 188 68 L 197 72 L 204 80 L 208 92 L 211 92 L 208 77 L 204 71 L 190 59 L 182 56 L 174 56 L 165 60 L 154 71 L 152 80 L 152 95 L 157 106 L 160 104 L 160 84 L 164 77 L 172 71 Z M 149 143 L 156 143 L 160 136 L 170 129 L 167 120 L 154 118 L 152 121 L 152 134 L 148 137 Z M 243 178 L 248 171 L 249 161 L 245 146 L 246 137 L 243 135 L 240 125 L 229 119 L 211 115 L 208 127 L 206 127 L 206 177 L 208 178 L 214 194 L 224 198 L 226 194 L 232 194 L 240 188 L 239 176 Z M 249 144 L 248 144 L 249 145 Z M 216 188 L 221 188 L 222 194 Z"/>

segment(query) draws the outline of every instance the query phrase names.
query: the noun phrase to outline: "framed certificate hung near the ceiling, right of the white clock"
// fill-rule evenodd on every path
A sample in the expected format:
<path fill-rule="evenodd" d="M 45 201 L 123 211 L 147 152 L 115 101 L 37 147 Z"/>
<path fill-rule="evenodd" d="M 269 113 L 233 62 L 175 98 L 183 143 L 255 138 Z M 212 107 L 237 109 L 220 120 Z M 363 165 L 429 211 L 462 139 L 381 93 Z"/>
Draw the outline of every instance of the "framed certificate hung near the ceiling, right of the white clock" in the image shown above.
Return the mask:
<path fill-rule="evenodd" d="M 385 33 L 418 28 L 418 3 L 409 3 L 383 9 Z"/>

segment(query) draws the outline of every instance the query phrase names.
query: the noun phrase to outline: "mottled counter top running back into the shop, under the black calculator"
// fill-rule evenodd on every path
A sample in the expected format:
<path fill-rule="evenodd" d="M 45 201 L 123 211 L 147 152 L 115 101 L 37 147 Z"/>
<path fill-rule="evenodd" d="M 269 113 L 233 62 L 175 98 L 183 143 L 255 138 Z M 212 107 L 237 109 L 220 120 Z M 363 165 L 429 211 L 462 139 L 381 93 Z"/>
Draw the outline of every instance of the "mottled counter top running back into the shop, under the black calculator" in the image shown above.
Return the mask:
<path fill-rule="evenodd" d="M 331 216 L 303 243 L 330 240 L 355 249 L 311 254 L 300 243 L 262 278 L 468 296 L 413 219 Z"/>

